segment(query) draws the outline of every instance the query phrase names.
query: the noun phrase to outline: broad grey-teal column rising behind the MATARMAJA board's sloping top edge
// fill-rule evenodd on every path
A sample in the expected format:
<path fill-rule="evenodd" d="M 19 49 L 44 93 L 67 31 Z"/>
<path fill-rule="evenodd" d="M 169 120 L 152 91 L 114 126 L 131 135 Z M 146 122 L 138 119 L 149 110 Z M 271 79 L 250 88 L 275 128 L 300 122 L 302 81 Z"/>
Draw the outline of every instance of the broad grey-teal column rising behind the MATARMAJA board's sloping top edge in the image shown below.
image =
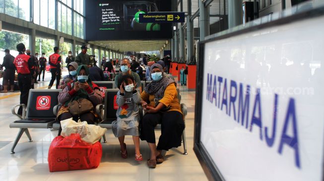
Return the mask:
<path fill-rule="evenodd" d="M 228 27 L 233 28 L 243 23 L 242 0 L 228 1 Z"/>

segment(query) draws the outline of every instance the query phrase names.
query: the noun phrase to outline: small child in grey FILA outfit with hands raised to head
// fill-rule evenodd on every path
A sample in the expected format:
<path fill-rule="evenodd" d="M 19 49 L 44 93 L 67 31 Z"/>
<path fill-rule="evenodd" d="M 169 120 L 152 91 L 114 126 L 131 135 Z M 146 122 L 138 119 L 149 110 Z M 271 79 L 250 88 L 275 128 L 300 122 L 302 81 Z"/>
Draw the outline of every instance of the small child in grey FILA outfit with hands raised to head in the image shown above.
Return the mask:
<path fill-rule="evenodd" d="M 138 129 L 138 106 L 140 95 L 136 90 L 134 78 L 130 75 L 124 75 L 119 84 L 116 103 L 118 110 L 117 120 L 112 122 L 112 130 L 121 145 L 122 158 L 127 158 L 125 135 L 131 135 L 135 146 L 135 160 L 142 161 L 143 157 L 139 151 L 139 129 Z"/>

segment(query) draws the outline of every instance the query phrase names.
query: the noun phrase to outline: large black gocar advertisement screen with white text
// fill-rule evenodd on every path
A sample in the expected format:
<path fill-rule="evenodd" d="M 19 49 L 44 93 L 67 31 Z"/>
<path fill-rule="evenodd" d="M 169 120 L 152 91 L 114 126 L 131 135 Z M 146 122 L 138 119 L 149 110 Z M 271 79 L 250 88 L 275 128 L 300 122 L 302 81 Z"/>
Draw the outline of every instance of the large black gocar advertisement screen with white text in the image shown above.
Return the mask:
<path fill-rule="evenodd" d="M 86 0 L 85 39 L 170 39 L 171 23 L 139 23 L 139 14 L 171 10 L 171 0 Z"/>

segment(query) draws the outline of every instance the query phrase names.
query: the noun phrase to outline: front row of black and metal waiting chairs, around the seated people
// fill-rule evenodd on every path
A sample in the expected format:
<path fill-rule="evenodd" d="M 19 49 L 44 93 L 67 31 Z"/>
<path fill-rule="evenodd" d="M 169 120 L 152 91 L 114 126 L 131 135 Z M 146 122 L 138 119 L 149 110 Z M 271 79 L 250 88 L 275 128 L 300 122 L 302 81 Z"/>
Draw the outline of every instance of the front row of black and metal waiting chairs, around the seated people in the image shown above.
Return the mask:
<path fill-rule="evenodd" d="M 96 112 L 98 115 L 102 117 L 102 122 L 98 125 L 103 128 L 111 129 L 111 123 L 117 119 L 116 112 L 118 107 L 114 104 L 117 96 L 118 89 L 112 89 L 114 84 L 111 82 L 94 82 L 99 87 L 106 88 L 104 89 L 105 98 L 103 104 L 99 104 L 96 106 Z M 145 85 L 145 82 L 142 82 Z M 19 128 L 18 135 L 14 140 L 13 146 L 11 148 L 11 154 L 15 153 L 14 148 L 16 147 L 19 139 L 25 133 L 29 139 L 29 142 L 32 141 L 28 128 L 56 128 L 60 127 L 60 123 L 56 120 L 56 114 L 60 108 L 60 104 L 58 101 L 58 95 L 62 90 L 30 90 L 27 107 L 23 104 L 18 104 L 12 107 L 11 112 L 13 115 L 16 115 L 20 118 L 20 120 L 14 121 L 10 123 L 10 128 Z M 139 90 L 138 90 L 139 91 Z M 178 98 L 179 102 L 181 101 L 181 94 L 179 88 Z M 23 107 L 23 115 L 20 116 L 16 113 L 16 108 L 22 106 Z M 143 111 L 141 105 L 139 105 L 140 109 L 140 118 L 143 117 Z M 187 107 L 185 104 L 181 104 L 181 109 L 184 114 L 184 121 L 187 115 Z M 158 126 L 157 128 L 160 128 Z M 185 130 L 183 132 L 183 145 L 184 145 L 184 154 L 187 155 L 187 143 L 186 143 L 186 134 Z M 103 136 L 104 142 L 106 142 L 105 135 Z"/>

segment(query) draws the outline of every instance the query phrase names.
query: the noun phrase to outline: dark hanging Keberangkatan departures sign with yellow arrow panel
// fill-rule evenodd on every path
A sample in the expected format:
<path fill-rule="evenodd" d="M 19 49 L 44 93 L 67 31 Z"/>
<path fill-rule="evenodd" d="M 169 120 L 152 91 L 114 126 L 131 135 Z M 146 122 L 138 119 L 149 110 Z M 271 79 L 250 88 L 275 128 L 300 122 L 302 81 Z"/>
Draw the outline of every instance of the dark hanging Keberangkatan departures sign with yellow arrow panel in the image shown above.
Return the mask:
<path fill-rule="evenodd" d="M 139 23 L 184 23 L 184 12 L 149 12 L 139 14 Z"/>

